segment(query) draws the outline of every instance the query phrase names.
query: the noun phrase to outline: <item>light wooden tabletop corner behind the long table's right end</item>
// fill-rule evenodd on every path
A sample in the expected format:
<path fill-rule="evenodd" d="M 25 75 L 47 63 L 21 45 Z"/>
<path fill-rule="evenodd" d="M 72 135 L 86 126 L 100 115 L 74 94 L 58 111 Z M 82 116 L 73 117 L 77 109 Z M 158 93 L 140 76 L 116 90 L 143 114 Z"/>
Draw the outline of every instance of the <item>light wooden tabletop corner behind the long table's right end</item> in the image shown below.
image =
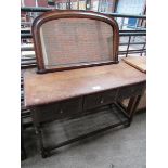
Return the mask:
<path fill-rule="evenodd" d="M 128 56 L 122 60 L 137 69 L 146 73 L 146 56 Z"/>

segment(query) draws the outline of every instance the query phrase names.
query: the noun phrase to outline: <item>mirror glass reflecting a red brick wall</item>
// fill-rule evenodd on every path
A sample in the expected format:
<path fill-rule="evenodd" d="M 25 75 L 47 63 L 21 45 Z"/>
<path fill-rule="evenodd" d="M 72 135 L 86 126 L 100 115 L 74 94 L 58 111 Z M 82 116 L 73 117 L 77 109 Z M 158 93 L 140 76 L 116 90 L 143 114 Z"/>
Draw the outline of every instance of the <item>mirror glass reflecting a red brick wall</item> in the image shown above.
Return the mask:
<path fill-rule="evenodd" d="M 89 18 L 44 23 L 40 38 L 46 68 L 113 60 L 113 28 Z"/>

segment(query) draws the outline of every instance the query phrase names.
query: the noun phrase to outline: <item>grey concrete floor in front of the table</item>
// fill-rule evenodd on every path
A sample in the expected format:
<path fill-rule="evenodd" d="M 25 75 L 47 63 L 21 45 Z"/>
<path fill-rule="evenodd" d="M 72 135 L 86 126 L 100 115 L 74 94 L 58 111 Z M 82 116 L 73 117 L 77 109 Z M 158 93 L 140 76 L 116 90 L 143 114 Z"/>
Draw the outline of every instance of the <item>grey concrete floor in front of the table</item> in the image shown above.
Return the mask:
<path fill-rule="evenodd" d="M 27 159 L 22 168 L 145 168 L 146 113 L 134 116 L 128 128 L 108 130 L 93 138 L 56 150 L 42 159 L 34 131 L 27 130 Z"/>

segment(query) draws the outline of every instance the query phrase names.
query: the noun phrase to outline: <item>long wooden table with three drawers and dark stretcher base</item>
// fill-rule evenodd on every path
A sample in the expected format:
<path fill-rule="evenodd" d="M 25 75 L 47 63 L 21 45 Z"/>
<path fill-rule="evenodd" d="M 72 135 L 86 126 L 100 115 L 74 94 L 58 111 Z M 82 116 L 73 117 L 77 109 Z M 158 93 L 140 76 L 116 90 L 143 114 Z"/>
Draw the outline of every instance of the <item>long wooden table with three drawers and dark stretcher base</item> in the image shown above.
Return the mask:
<path fill-rule="evenodd" d="M 133 113 L 145 88 L 146 76 L 126 63 L 95 66 L 38 75 L 27 72 L 24 77 L 25 105 L 31 108 L 42 157 L 53 148 L 95 134 L 116 126 L 130 126 Z M 127 112 L 117 102 L 131 98 Z M 41 126 L 48 121 L 92 114 L 115 104 L 127 120 L 68 140 L 54 147 L 44 147 Z"/>

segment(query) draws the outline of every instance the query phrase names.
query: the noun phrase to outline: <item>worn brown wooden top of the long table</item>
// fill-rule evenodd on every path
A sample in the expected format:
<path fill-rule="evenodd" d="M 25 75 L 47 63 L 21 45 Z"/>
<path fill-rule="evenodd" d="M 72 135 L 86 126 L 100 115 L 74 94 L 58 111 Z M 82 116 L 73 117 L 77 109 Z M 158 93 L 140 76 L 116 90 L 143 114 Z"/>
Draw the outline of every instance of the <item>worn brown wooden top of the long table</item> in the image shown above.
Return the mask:
<path fill-rule="evenodd" d="M 126 63 L 48 74 L 26 72 L 25 106 L 37 106 L 115 89 L 146 80 L 146 75 Z"/>

